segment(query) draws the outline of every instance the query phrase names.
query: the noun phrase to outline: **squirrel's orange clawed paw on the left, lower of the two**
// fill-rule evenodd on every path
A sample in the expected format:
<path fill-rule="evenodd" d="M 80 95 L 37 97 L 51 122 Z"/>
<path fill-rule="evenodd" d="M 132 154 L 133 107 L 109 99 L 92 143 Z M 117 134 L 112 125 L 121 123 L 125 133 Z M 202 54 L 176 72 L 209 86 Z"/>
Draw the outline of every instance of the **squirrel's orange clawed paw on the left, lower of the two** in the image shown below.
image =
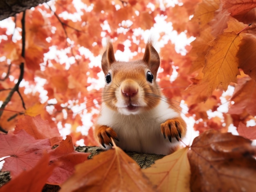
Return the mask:
<path fill-rule="evenodd" d="M 104 143 L 113 146 L 110 137 L 119 141 L 119 139 L 117 138 L 117 133 L 112 128 L 105 125 L 96 128 L 95 136 L 104 148 L 106 148 Z"/>

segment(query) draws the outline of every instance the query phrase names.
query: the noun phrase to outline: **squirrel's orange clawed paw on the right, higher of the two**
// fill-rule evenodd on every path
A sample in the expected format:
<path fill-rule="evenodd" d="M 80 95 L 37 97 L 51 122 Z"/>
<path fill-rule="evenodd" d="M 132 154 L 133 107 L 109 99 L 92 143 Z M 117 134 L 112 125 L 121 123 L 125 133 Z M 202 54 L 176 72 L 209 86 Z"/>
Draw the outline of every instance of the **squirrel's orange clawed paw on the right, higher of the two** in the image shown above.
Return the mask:
<path fill-rule="evenodd" d="M 177 141 L 179 141 L 179 138 L 183 135 L 184 129 L 183 119 L 180 118 L 168 119 L 161 124 L 161 132 L 164 135 L 164 139 L 168 137 L 170 142 L 172 142 L 172 137 L 175 137 Z"/>

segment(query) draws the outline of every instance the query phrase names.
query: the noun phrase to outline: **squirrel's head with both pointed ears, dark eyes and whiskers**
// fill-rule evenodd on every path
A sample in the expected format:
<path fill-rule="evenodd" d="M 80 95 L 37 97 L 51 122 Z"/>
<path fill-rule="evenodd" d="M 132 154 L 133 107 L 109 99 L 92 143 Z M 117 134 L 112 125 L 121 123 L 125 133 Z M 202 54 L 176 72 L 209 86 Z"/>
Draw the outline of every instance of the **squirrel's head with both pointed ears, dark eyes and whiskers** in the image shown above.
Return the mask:
<path fill-rule="evenodd" d="M 142 60 L 120 62 L 115 59 L 113 45 L 108 40 L 101 65 L 107 83 L 103 92 L 103 102 L 108 101 L 106 106 L 125 115 L 135 115 L 159 103 L 161 92 L 156 76 L 160 58 L 152 41 L 147 42 Z"/>

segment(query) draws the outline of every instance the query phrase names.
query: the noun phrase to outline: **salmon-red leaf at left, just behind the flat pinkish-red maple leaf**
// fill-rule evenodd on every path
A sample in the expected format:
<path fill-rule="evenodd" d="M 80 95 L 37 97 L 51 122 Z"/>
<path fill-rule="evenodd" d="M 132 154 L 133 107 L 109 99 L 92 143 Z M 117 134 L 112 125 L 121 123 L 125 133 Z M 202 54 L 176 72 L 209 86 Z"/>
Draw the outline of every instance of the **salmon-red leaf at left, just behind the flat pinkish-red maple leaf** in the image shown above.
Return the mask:
<path fill-rule="evenodd" d="M 58 128 L 51 128 L 47 120 L 43 120 L 40 115 L 31 117 L 25 115 L 22 119 L 18 120 L 16 124 L 14 134 L 20 130 L 25 130 L 29 135 L 35 139 L 50 139 L 51 146 L 60 142 L 62 137 L 58 132 Z"/>

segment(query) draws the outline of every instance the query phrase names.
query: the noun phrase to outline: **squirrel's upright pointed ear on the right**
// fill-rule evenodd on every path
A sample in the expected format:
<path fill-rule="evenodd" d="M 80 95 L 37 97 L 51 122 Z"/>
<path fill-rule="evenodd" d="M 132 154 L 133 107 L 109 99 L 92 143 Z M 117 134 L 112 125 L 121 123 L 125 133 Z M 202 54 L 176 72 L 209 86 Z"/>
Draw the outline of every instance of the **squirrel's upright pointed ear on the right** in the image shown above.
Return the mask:
<path fill-rule="evenodd" d="M 151 40 L 149 40 L 146 44 L 143 61 L 148 65 L 148 68 L 150 69 L 150 71 L 154 75 L 156 75 L 157 70 L 160 65 L 160 58 L 159 58 L 157 51 L 153 47 Z"/>

